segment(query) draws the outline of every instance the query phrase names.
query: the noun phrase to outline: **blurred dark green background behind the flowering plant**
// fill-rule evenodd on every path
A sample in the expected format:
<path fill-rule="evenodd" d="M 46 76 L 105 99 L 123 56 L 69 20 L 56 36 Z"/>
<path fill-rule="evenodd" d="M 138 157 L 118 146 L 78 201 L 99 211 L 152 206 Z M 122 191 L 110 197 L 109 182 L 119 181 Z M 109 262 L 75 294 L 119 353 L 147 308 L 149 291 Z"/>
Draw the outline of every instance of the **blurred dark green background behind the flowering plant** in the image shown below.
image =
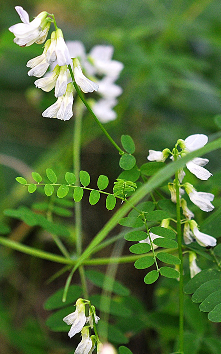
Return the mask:
<path fill-rule="evenodd" d="M 117 120 L 105 127 L 118 143 L 122 134 L 133 137 L 138 165 L 147 162 L 148 149 L 172 148 L 178 138 L 185 139 L 195 133 L 207 134 L 209 140 L 218 137 L 219 127 L 214 119 L 220 111 L 218 0 L 4 1 L 0 16 L 1 218 L 5 208 L 21 204 L 28 206 L 35 201 L 33 196 L 28 196 L 21 186 L 17 186 L 14 181 L 17 175 L 29 177 L 31 171 L 41 173 L 46 167 L 62 174 L 72 168 L 74 117 L 63 122 L 41 116 L 42 111 L 54 102 L 53 92 L 36 89 L 33 85 L 35 78 L 27 75 L 26 62 L 41 54 L 41 46 L 33 44 L 21 48 L 13 43 L 13 34 L 8 27 L 19 22 L 15 5 L 26 9 L 30 18 L 42 10 L 54 13 L 65 39 L 83 41 L 87 51 L 96 44 L 114 46 L 114 59 L 125 65 L 118 80 L 123 94 L 116 107 Z M 208 158 L 214 179 L 202 185 L 201 190 L 216 192 L 218 154 L 209 154 Z M 121 172 L 118 160 L 117 151 L 102 136 L 92 118 L 86 115 L 81 167 L 90 172 L 92 185 L 100 174 L 106 174 L 114 182 Z M 196 184 L 195 177 L 191 178 L 191 182 Z M 111 212 L 103 211 L 102 204 L 92 208 L 86 199 L 83 201 L 85 244 L 110 215 Z M 198 211 L 198 217 L 203 219 L 204 214 Z M 67 219 L 65 223 L 71 224 L 73 219 Z M 11 226 L 16 231 L 15 240 L 23 241 L 20 234 L 26 234 L 27 244 L 56 252 L 52 244 L 45 246 L 39 230 L 26 231 L 22 225 L 20 230 L 15 222 Z M 125 252 L 127 249 L 126 246 Z M 110 251 L 105 250 L 101 255 L 108 256 Z M 0 352 L 35 353 L 33 348 L 30 352 L 28 344 L 27 347 L 21 346 L 18 339 L 12 338 L 10 330 L 15 325 L 17 335 L 25 331 L 30 333 L 24 338 L 32 337 L 35 331 L 38 334 L 42 331 L 45 344 L 42 342 L 41 351 L 38 348 L 36 353 L 70 353 L 62 349 L 61 342 L 57 344 L 56 351 L 56 341 L 66 341 L 69 349 L 70 343 L 65 334 L 60 337 L 49 334 L 44 325 L 47 315 L 42 309 L 47 296 L 64 284 L 65 280 L 60 278 L 51 286 L 44 283 L 60 267 L 22 254 L 14 253 L 12 256 L 8 253 L 5 256 L 2 252 L 0 319 L 2 317 L 4 321 L 0 321 Z M 144 274 L 135 272 L 133 265 L 121 266 L 120 269 L 119 279 L 151 309 L 153 300 L 147 304 L 146 297 L 150 295 L 142 281 Z M 29 315 L 37 319 L 36 323 L 31 322 Z M 29 327 L 28 321 L 31 323 Z M 145 346 L 150 354 L 167 353 L 165 343 L 159 344 L 156 333 L 152 332 L 147 331 L 144 344 L 139 348 L 136 340 L 132 340 L 131 348 L 135 354 L 147 353 Z M 150 337 L 153 345 L 147 345 Z M 139 337 L 139 342 L 142 339 Z"/>

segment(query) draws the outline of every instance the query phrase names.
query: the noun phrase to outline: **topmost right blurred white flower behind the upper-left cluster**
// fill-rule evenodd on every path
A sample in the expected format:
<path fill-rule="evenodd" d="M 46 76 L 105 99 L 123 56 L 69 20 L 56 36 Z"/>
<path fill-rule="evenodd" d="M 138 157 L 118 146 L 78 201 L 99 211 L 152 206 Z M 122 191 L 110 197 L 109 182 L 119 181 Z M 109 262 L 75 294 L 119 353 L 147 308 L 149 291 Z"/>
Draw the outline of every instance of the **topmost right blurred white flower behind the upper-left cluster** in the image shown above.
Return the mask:
<path fill-rule="evenodd" d="M 95 45 L 88 57 L 99 75 L 112 76 L 116 79 L 124 65 L 120 61 L 112 60 L 113 52 L 112 45 Z"/>

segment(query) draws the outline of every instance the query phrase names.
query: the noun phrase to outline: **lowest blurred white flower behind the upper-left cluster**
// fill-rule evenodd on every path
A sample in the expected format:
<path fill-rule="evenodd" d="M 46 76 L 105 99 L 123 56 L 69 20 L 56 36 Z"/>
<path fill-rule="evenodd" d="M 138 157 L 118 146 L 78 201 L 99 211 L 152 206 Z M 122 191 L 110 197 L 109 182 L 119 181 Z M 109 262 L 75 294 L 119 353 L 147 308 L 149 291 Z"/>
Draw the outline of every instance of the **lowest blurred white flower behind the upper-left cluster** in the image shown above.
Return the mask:
<path fill-rule="evenodd" d="M 117 113 L 112 109 L 116 106 L 116 104 L 116 99 L 107 100 L 101 98 L 99 101 L 94 103 L 92 108 L 99 121 L 102 123 L 107 123 L 117 118 Z"/>

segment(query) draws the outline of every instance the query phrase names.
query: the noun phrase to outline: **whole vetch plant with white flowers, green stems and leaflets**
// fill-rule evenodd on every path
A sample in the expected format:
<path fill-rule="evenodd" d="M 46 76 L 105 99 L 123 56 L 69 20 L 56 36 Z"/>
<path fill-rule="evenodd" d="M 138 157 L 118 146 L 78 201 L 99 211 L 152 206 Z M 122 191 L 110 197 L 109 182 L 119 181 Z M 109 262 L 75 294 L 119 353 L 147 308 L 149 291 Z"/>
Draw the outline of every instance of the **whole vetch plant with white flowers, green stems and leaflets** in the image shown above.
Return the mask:
<path fill-rule="evenodd" d="M 193 302 L 201 303 L 200 310 L 209 313 L 210 321 L 220 322 L 221 266 L 216 237 L 206 233 L 209 231 L 205 230 L 205 224 L 201 223 L 200 218 L 199 224 L 194 220 L 195 214 L 198 220 L 199 213 L 194 214 L 196 209 L 194 212 L 191 210 L 192 202 L 200 210 L 212 212 L 215 208 L 212 204 L 215 194 L 197 191 L 189 183 L 187 176 L 185 177 L 184 169 L 186 166 L 203 181 L 212 177 L 212 173 L 203 167 L 209 160 L 201 156 L 218 149 L 221 140 L 207 144 L 208 137 L 205 134 L 193 134 L 185 140 L 178 139 L 172 150 L 149 150 L 148 162 L 139 165 L 132 137 L 122 135 L 120 146 L 102 125 L 102 122 L 116 119 L 113 108 L 117 104 L 117 97 L 122 93 L 122 88 L 115 81 L 124 65 L 112 58 L 113 46 L 95 45 L 87 54 L 81 42 L 65 42 L 53 14 L 43 11 L 29 21 L 27 12 L 21 6 L 16 6 L 15 9 L 22 23 L 9 27 L 15 35 L 14 42 L 20 46 L 45 42 L 42 54 L 27 62 L 27 67 L 30 68 L 28 75 L 38 78 L 34 82 L 35 86 L 45 92 L 54 89 L 57 99 L 43 111 L 43 117 L 66 121 L 73 116 L 73 170 L 62 174 L 56 167 L 52 169 L 49 166 L 45 173 L 32 172 L 32 180 L 31 177 L 30 180 L 16 177 L 20 185 L 26 187 L 30 194 L 34 194 L 33 200 L 37 192 L 41 193 L 42 200 L 34 200 L 30 207 L 20 206 L 4 211 L 7 217 L 18 219 L 30 228 L 45 230 L 61 255 L 25 246 L 5 237 L 0 237 L 0 243 L 63 265 L 49 281 L 66 274 L 64 287 L 52 294 L 44 307 L 48 311 L 55 310 L 47 319 L 47 326 L 51 330 L 66 332 L 66 325 L 71 326 L 68 332 L 71 343 L 74 343 L 73 337 L 77 338 L 81 334 L 75 354 L 117 353 L 116 346 L 127 344 L 130 338 L 151 326 L 150 323 L 157 323 L 165 315 L 164 311 L 171 309 L 173 301 L 179 302 L 179 338 L 177 342 L 177 331 L 176 337 L 171 337 L 174 341 L 170 342 L 173 342 L 173 351 L 186 354 L 184 304 L 188 306 L 189 303 L 184 293 L 193 294 Z M 54 25 L 54 30 L 50 39 L 47 39 L 51 24 Z M 50 72 L 46 73 L 48 68 Z M 84 93 L 92 96 L 87 98 Z M 116 176 L 115 181 L 110 183 L 104 171 L 104 174 L 98 176 L 94 188 L 90 184 L 94 183 L 90 173 L 80 166 L 85 108 L 120 155 L 121 173 Z M 91 206 L 103 203 L 108 211 L 113 210 L 109 221 L 89 244 L 86 244 L 86 240 L 83 243 L 82 198 L 88 198 Z M 64 218 L 67 220 L 72 216 L 73 208 L 74 233 L 72 226 L 63 222 Z M 217 211 L 212 215 L 216 216 L 215 213 Z M 59 222 L 57 219 L 55 222 L 54 217 Z M 106 239 L 117 225 L 118 228 L 122 226 L 120 234 Z M 123 239 L 132 243 L 129 246 L 131 254 L 121 256 L 120 253 L 113 253 L 112 257 L 103 258 L 94 256 L 96 252 L 114 243 L 117 245 L 117 252 L 117 242 L 123 242 Z M 169 299 L 170 302 L 164 307 L 165 301 L 164 298 L 163 301 L 159 300 L 159 294 L 162 295 L 159 291 L 156 297 L 160 310 L 158 308 L 152 313 L 147 312 L 143 304 L 130 294 L 128 288 L 116 281 L 114 276 L 105 276 L 102 272 L 90 269 L 100 265 L 109 267 L 110 264 L 117 267 L 121 263 L 134 263 L 136 272 L 144 272 L 145 286 L 159 279 L 155 289 L 162 282 L 165 292 L 163 296 L 166 298 L 169 289 L 173 300 Z M 72 284 L 76 271 L 79 272 L 80 285 Z M 191 278 L 189 282 L 184 276 Z M 91 287 L 88 287 L 88 282 L 102 288 L 102 294 L 89 291 Z M 74 302 L 75 311 L 72 306 Z M 71 307 L 67 308 L 68 305 Z M 190 309 L 192 305 L 189 306 Z M 96 315 L 98 311 L 99 317 Z M 171 312 L 168 315 L 172 317 L 176 314 Z M 156 328 L 153 327 L 154 330 Z M 162 333 L 164 336 L 166 331 Z M 162 343 L 164 341 L 163 338 Z M 120 354 L 132 353 L 125 346 L 120 346 L 118 351 Z"/>

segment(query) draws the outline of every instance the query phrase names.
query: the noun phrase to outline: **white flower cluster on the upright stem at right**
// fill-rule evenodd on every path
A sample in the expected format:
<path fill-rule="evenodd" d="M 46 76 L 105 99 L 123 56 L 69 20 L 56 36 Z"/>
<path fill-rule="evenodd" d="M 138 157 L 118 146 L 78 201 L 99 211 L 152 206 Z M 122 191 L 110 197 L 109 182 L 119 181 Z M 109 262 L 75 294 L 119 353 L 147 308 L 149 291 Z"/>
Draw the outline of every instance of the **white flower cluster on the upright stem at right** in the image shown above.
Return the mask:
<path fill-rule="evenodd" d="M 185 156 L 191 151 L 195 151 L 208 142 L 208 137 L 204 134 L 194 134 L 188 136 L 185 140 L 179 139 L 177 145 L 180 146 L 181 151 L 179 152 L 179 158 Z M 147 159 L 149 161 L 158 161 L 165 162 L 168 156 L 171 154 L 172 160 L 174 160 L 174 154 L 176 153 L 175 149 L 171 152 L 169 149 L 164 149 L 163 151 L 155 151 L 149 150 L 149 155 Z M 192 172 L 197 178 L 201 180 L 207 180 L 212 173 L 210 173 L 205 166 L 209 162 L 208 159 L 197 157 L 192 161 L 186 164 L 186 167 L 190 172 Z M 185 176 L 185 172 L 183 169 L 179 170 L 179 181 L 183 182 L 183 178 Z M 194 240 L 196 240 L 199 245 L 203 247 L 214 247 L 217 244 L 216 238 L 204 234 L 199 231 L 198 224 L 195 220 L 191 220 L 194 218 L 194 213 L 187 207 L 187 202 L 182 198 L 182 195 L 185 193 L 188 194 L 190 200 L 197 205 L 201 210 L 209 212 L 214 209 L 213 204 L 211 203 L 214 200 L 214 194 L 206 193 L 206 192 L 197 192 L 194 186 L 190 183 L 184 183 L 180 188 L 180 206 L 183 210 L 183 215 L 186 217 L 186 221 L 184 223 L 184 242 L 185 244 L 190 244 Z M 171 193 L 172 202 L 177 202 L 176 197 L 176 188 L 174 183 L 168 184 L 169 191 Z M 159 236 L 158 236 L 159 237 Z"/>

